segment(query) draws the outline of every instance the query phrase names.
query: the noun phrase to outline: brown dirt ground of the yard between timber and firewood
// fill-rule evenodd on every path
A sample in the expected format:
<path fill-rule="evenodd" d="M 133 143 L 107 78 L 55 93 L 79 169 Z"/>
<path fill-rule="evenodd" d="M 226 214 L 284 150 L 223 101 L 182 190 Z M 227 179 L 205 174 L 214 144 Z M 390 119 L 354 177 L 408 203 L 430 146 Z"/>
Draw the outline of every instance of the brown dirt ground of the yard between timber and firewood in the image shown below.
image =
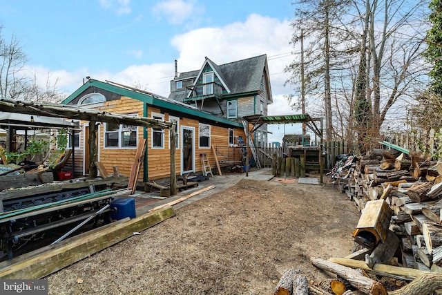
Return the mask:
<path fill-rule="evenodd" d="M 279 181 L 278 181 L 279 180 Z M 273 294 L 310 257 L 352 253 L 360 213 L 338 189 L 240 180 L 176 216 L 48 276 L 49 294 Z"/>

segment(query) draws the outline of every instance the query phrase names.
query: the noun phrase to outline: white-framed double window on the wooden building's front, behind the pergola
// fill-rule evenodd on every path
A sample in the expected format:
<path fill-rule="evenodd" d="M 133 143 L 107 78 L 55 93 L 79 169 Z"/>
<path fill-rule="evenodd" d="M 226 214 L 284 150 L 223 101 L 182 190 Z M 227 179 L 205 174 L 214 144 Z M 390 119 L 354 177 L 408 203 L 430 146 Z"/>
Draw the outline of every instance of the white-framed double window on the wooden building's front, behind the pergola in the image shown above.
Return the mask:
<path fill-rule="evenodd" d="M 137 114 L 129 114 L 133 117 Z M 104 124 L 104 147 L 106 148 L 136 148 L 138 127 L 116 123 Z"/>

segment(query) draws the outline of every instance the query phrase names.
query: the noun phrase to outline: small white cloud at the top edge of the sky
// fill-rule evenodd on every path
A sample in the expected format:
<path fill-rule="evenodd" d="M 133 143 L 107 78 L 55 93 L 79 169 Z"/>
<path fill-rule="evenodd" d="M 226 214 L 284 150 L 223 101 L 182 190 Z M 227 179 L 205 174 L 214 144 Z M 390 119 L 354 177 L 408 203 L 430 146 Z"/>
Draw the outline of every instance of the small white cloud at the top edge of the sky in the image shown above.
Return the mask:
<path fill-rule="evenodd" d="M 195 19 L 195 16 L 204 12 L 204 7 L 202 4 L 197 5 L 195 0 L 167 0 L 157 3 L 153 7 L 153 12 L 159 17 L 164 15 L 169 23 L 179 25 L 189 17 Z"/>

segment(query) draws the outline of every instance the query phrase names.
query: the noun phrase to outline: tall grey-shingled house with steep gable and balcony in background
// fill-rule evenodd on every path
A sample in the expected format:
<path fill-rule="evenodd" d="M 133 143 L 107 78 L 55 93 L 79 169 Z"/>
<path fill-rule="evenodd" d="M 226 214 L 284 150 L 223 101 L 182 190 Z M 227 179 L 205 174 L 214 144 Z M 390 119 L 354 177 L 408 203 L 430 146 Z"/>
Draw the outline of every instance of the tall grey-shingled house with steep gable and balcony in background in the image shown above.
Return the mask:
<path fill-rule="evenodd" d="M 220 65 L 206 57 L 200 69 L 180 75 L 175 61 L 169 98 L 236 122 L 245 116 L 267 116 L 273 102 L 267 55 Z M 267 124 L 254 133 L 254 142 L 267 142 Z"/>

